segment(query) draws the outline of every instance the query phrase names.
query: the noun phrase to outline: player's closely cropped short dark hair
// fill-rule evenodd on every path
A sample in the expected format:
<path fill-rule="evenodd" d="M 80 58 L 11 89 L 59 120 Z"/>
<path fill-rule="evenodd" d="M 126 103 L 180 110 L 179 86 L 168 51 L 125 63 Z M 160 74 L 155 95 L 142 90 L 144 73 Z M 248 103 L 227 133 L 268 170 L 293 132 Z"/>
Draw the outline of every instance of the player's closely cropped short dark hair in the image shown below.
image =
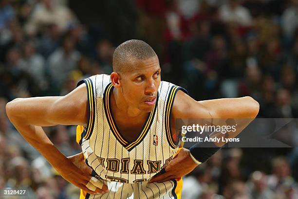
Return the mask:
<path fill-rule="evenodd" d="M 146 60 L 156 56 L 148 43 L 138 39 L 131 39 L 120 44 L 113 54 L 113 71 L 124 72 L 130 67 L 130 60 L 135 58 Z"/>

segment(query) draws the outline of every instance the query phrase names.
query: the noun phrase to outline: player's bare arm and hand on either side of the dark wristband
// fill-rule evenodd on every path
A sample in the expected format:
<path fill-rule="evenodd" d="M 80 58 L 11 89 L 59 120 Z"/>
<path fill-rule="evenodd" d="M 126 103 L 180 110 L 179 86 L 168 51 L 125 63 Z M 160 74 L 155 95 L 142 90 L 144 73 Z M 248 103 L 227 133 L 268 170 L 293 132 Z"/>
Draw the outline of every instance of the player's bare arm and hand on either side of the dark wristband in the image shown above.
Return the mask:
<path fill-rule="evenodd" d="M 183 91 L 179 90 L 176 94 L 172 115 L 171 129 L 175 130 L 175 119 L 178 118 L 193 118 L 205 119 L 211 125 L 226 125 L 226 120 L 233 118 L 238 125 L 234 133 L 228 135 L 229 138 L 237 136 L 258 114 L 259 103 L 251 97 L 216 99 L 206 101 L 195 101 Z M 218 120 L 214 119 L 218 118 Z M 211 120 L 212 119 L 212 120 Z M 212 123 L 211 123 L 212 121 Z M 205 124 L 202 124 L 205 125 Z M 221 132 L 212 133 L 210 137 L 224 136 Z M 214 143 L 217 146 L 222 146 L 225 143 Z M 182 148 L 175 158 L 165 168 L 166 172 L 153 177 L 150 182 L 164 182 L 172 179 L 180 178 L 191 172 L 198 164 L 195 163 L 189 156 L 189 150 Z"/>

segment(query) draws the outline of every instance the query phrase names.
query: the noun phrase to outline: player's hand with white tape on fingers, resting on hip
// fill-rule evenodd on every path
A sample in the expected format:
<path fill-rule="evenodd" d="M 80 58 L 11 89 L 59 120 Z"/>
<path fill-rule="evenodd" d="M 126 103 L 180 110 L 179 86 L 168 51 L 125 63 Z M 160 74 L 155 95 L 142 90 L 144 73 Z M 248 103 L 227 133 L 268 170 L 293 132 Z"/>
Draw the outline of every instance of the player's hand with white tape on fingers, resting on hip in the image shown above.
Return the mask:
<path fill-rule="evenodd" d="M 86 165 L 85 162 L 84 164 L 89 167 L 91 171 L 87 167 L 83 166 L 81 161 L 84 161 L 84 157 L 83 159 L 80 157 L 82 154 L 77 155 L 69 157 L 58 168 L 56 167 L 58 173 L 65 180 L 71 182 L 89 194 L 106 193 L 108 191 L 108 187 L 103 184 L 102 181 L 99 181 L 95 177 L 91 176 L 92 169 Z"/>

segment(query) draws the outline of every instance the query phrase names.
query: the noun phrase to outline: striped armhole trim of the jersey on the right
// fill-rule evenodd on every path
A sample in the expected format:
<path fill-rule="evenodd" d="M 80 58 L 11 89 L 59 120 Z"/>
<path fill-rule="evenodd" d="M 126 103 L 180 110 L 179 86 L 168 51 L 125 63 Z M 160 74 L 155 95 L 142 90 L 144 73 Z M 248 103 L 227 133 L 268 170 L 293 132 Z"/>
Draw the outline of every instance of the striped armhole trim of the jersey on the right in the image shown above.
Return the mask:
<path fill-rule="evenodd" d="M 173 104 L 174 104 L 174 99 L 175 99 L 175 96 L 176 96 L 176 93 L 178 90 L 182 90 L 183 92 L 188 94 L 186 89 L 179 87 L 179 86 L 172 86 L 169 91 L 169 94 L 168 94 L 166 113 L 165 113 L 165 115 L 166 115 L 165 127 L 166 127 L 167 140 L 168 140 L 168 144 L 172 148 L 176 148 L 176 146 L 179 143 L 179 138 L 174 139 L 173 136 L 177 136 L 177 135 L 176 134 L 173 135 L 173 133 L 171 131 L 171 112 L 172 112 L 172 108 L 173 108 Z"/>

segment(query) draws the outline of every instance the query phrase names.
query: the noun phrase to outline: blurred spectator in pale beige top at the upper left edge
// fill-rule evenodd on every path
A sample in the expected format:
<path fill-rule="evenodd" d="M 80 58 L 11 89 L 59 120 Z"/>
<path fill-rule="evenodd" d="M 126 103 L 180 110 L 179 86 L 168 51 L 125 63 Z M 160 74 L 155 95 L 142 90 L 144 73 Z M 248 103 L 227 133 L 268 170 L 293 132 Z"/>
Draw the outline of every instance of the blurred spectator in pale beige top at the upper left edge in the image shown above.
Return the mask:
<path fill-rule="evenodd" d="M 29 35 L 36 35 L 44 26 L 56 24 L 59 31 L 63 32 L 75 21 L 76 18 L 68 7 L 55 4 L 53 0 L 41 0 L 25 25 L 25 30 Z"/>

